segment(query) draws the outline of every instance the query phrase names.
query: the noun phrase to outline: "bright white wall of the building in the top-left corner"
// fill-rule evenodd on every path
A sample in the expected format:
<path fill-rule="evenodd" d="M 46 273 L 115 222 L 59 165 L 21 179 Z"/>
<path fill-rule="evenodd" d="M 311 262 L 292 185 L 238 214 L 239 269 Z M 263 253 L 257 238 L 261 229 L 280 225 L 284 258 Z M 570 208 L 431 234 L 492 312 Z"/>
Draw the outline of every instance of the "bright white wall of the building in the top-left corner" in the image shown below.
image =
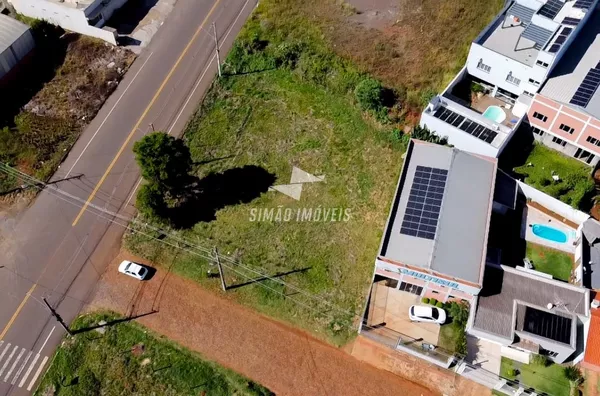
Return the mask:
<path fill-rule="evenodd" d="M 97 37 L 116 45 L 114 34 L 108 30 L 88 25 L 83 9 L 77 9 L 46 0 L 9 0 L 17 12 L 36 19 L 43 19 L 63 29 Z"/>

